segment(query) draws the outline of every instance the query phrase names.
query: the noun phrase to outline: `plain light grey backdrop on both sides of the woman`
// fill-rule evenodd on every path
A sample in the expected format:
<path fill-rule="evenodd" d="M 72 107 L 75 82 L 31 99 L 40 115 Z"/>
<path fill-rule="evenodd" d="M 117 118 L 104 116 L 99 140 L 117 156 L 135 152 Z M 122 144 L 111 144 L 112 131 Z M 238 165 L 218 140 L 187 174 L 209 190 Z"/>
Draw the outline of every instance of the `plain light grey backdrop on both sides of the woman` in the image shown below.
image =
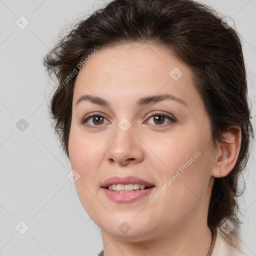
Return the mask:
<path fill-rule="evenodd" d="M 256 0 L 201 2 L 231 17 L 242 36 L 255 116 Z M 42 58 L 58 32 L 102 4 L 100 0 L 0 0 L 0 255 L 86 256 L 102 249 L 100 229 L 66 177 L 71 166 L 50 126 L 45 95 L 52 85 L 42 69 Z M 24 29 L 15 23 L 21 15 L 29 21 Z M 23 130 L 21 118 L 28 123 Z M 256 128 L 255 118 L 252 122 Z M 241 237 L 248 255 L 256 254 L 256 150 L 252 146 L 243 175 L 246 189 L 239 199 Z M 24 234 L 20 234 L 25 230 L 21 220 L 29 226 Z"/>

